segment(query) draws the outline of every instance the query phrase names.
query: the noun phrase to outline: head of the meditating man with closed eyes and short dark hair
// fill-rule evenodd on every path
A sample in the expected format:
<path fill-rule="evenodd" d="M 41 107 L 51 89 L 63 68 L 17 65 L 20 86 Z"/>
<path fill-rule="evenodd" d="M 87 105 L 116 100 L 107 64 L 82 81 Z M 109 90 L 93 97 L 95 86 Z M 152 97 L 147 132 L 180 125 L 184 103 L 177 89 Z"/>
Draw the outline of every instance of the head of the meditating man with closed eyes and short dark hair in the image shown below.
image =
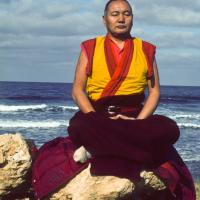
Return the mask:
<path fill-rule="evenodd" d="M 111 35 L 129 35 L 133 24 L 133 15 L 129 4 L 126 1 L 111 2 L 103 21 Z"/>

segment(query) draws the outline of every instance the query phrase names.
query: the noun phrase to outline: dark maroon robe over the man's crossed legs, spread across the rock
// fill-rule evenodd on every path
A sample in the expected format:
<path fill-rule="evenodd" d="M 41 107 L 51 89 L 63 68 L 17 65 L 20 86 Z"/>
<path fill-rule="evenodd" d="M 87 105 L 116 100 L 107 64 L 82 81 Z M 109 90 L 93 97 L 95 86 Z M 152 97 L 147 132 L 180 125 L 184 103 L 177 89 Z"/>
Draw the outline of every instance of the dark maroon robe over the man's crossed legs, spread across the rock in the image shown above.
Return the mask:
<path fill-rule="evenodd" d="M 152 69 L 155 48 L 147 43 L 144 47 L 151 50 L 147 63 Z M 122 57 L 125 59 L 128 53 L 125 51 Z M 92 56 L 91 52 L 89 55 Z M 112 55 L 107 57 L 112 60 Z M 120 63 L 123 69 L 130 66 L 128 61 Z M 126 74 L 127 70 L 123 69 L 119 77 Z M 88 72 L 92 73 L 92 69 Z M 151 75 L 152 70 L 149 77 Z M 78 164 L 73 160 L 75 149 L 83 145 L 92 154 L 89 160 L 91 174 L 114 175 L 138 183 L 140 171 L 151 170 L 166 182 L 167 200 L 195 200 L 192 177 L 173 147 L 180 134 L 175 121 L 161 115 L 143 120 L 109 118 L 109 106 L 114 106 L 115 114 L 131 117 L 136 117 L 142 109 L 143 94 L 110 96 L 115 94 L 121 83 L 116 86 L 108 83 L 102 98 L 91 101 L 96 112 L 84 114 L 79 111 L 75 114 L 68 127 L 69 137 L 57 138 L 41 147 L 33 165 L 32 182 L 37 199 L 55 192 L 87 167 L 88 163 Z M 152 198 L 159 199 L 156 196 Z"/>

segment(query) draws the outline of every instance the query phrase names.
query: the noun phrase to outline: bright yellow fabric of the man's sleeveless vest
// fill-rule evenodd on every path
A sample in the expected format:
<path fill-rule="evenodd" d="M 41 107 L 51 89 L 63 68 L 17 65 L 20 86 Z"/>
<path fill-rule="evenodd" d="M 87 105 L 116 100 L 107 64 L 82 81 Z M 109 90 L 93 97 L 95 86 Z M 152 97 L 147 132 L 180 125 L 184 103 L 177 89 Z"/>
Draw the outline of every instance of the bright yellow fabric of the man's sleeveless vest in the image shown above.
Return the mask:
<path fill-rule="evenodd" d="M 88 77 L 86 91 L 92 100 L 101 97 L 104 88 L 110 81 L 120 81 L 110 76 L 106 62 L 105 37 L 97 37 L 94 49 L 92 74 Z M 142 93 L 147 85 L 147 61 L 142 49 L 142 40 L 133 39 L 134 52 L 129 71 L 114 95 L 130 95 Z M 117 69 L 118 66 L 116 66 Z M 115 73 L 114 73 L 115 74 Z M 113 74 L 113 76 L 114 76 Z"/>

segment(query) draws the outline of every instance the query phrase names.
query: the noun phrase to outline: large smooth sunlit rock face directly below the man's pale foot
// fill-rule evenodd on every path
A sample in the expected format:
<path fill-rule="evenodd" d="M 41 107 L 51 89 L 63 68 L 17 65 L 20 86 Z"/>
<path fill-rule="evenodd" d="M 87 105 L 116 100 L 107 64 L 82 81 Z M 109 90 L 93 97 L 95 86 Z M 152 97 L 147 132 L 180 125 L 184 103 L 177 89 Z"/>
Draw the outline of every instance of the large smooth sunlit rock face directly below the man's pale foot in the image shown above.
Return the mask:
<path fill-rule="evenodd" d="M 91 176 L 90 166 L 54 193 L 50 200 L 130 199 L 134 184 L 114 176 Z"/>

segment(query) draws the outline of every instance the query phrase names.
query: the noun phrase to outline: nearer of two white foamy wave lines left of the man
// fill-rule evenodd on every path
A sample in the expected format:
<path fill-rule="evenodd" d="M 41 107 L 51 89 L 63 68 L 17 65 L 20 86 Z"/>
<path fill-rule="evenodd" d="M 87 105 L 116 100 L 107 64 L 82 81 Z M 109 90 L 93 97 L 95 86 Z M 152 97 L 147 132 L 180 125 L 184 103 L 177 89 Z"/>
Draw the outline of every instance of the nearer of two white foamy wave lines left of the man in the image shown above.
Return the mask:
<path fill-rule="evenodd" d="M 28 121 L 28 120 L 2 120 L 0 121 L 1 128 L 56 128 L 59 126 L 68 126 L 69 121 Z"/>

